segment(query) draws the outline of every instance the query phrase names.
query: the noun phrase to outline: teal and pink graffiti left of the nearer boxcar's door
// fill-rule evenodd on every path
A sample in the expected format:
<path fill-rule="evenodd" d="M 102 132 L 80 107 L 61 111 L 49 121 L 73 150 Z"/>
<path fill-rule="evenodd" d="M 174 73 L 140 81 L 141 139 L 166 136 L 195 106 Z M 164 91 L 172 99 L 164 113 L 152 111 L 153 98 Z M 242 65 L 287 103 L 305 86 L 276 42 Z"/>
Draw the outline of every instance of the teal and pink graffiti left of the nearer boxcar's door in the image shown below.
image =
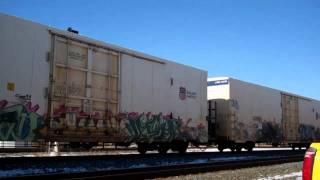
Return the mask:
<path fill-rule="evenodd" d="M 40 135 L 43 117 L 37 110 L 39 105 L 31 102 L 8 106 L 8 101 L 0 101 L 0 140 L 32 141 Z"/>

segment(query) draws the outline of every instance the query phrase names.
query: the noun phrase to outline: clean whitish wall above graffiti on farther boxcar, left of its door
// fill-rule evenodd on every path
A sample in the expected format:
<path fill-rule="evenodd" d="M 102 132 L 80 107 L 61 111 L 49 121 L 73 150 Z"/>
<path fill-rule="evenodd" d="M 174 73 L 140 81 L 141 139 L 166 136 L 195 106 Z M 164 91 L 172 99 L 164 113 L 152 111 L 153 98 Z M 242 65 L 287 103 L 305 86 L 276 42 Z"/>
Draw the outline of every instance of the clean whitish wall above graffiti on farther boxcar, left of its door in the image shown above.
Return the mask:
<path fill-rule="evenodd" d="M 245 135 L 233 138 L 237 141 L 254 141 L 256 129 L 262 129 L 263 121 L 281 124 L 281 94 L 271 88 L 247 83 L 244 81 L 229 79 L 230 81 L 230 99 L 237 104 L 235 112 L 237 114 L 237 125 L 241 133 L 247 130 L 248 137 Z M 258 122 L 256 122 L 256 121 Z"/>

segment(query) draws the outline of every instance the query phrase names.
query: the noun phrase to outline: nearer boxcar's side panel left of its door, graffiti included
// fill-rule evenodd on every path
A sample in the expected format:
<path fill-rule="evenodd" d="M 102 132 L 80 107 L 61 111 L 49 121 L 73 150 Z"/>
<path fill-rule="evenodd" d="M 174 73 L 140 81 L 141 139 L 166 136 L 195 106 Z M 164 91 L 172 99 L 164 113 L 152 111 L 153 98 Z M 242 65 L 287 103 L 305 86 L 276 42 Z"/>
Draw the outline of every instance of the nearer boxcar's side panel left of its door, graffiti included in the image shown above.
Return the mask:
<path fill-rule="evenodd" d="M 4 14 L 0 24 L 0 140 L 35 140 L 47 110 L 50 35 L 45 26 Z"/>

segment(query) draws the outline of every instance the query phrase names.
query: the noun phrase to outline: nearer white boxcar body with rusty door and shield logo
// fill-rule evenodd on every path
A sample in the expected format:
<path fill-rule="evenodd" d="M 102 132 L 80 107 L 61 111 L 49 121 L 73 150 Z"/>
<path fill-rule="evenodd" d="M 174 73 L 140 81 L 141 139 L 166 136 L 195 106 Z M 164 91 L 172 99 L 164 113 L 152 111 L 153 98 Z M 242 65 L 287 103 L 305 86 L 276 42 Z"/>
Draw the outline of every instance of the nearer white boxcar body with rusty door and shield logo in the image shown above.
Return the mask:
<path fill-rule="evenodd" d="M 0 139 L 207 141 L 207 72 L 0 14 Z"/>

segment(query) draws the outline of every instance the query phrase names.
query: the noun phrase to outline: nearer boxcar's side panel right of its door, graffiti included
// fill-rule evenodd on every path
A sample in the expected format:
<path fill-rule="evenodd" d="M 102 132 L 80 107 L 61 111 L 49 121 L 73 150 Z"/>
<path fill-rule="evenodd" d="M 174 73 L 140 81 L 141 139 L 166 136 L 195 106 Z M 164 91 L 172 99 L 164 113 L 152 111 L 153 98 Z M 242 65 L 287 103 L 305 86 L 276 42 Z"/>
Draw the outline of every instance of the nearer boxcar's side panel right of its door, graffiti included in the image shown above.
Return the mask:
<path fill-rule="evenodd" d="M 207 141 L 206 72 L 169 61 L 161 64 L 129 55 L 122 55 L 121 71 L 121 111 L 138 116 L 135 119 L 140 121 L 139 126 L 126 125 L 132 139 Z M 144 131 L 143 126 L 158 130 Z M 154 134 L 158 131 L 163 136 Z"/>

